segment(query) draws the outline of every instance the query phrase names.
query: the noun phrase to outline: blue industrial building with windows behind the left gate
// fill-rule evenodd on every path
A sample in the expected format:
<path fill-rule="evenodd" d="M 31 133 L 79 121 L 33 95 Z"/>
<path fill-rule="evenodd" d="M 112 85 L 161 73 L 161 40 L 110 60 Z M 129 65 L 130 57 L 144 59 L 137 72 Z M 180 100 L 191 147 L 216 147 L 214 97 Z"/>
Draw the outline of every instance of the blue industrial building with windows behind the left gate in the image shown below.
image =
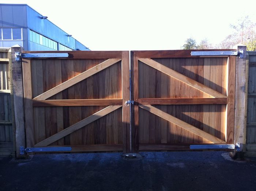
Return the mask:
<path fill-rule="evenodd" d="M 27 4 L 0 4 L 0 47 L 24 50 L 90 50 Z"/>

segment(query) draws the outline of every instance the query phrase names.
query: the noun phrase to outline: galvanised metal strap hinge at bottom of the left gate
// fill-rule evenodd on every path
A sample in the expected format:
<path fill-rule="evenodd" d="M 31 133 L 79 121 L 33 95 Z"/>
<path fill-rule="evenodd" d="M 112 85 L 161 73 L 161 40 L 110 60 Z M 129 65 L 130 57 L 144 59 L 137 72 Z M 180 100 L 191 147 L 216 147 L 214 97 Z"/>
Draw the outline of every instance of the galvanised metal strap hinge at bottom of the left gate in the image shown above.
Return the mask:
<path fill-rule="evenodd" d="M 33 147 L 33 148 L 24 148 L 24 146 L 19 147 L 20 154 L 30 153 L 30 152 L 56 152 L 56 151 L 71 151 L 70 146 L 59 146 L 59 147 Z"/>

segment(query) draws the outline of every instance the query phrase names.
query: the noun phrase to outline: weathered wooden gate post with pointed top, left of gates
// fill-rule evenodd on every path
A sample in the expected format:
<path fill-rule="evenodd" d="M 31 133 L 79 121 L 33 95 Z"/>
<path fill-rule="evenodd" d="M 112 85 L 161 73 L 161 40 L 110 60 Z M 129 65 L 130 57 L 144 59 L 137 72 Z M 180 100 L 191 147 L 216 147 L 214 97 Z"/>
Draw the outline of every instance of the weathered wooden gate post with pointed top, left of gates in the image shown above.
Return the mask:
<path fill-rule="evenodd" d="M 23 102 L 23 78 L 22 78 L 22 60 L 15 60 L 15 53 L 21 52 L 23 47 L 15 45 L 11 47 L 11 94 L 13 95 L 13 108 L 14 118 L 12 119 L 15 123 L 15 142 L 16 142 L 16 158 L 24 158 L 20 155 L 19 147 L 25 145 L 25 121 L 24 121 L 24 102 Z M 14 143 L 15 143 L 14 142 Z"/>

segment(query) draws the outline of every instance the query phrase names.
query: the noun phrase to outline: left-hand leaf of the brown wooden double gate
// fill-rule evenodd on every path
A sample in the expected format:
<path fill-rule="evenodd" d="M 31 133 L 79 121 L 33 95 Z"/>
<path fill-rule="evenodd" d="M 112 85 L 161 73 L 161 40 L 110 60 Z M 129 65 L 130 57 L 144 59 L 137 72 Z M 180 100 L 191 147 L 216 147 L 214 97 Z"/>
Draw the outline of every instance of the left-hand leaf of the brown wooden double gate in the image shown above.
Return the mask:
<path fill-rule="evenodd" d="M 129 100 L 129 52 L 68 53 L 63 59 L 23 58 L 26 146 L 126 152 L 130 111 L 122 106 Z"/>

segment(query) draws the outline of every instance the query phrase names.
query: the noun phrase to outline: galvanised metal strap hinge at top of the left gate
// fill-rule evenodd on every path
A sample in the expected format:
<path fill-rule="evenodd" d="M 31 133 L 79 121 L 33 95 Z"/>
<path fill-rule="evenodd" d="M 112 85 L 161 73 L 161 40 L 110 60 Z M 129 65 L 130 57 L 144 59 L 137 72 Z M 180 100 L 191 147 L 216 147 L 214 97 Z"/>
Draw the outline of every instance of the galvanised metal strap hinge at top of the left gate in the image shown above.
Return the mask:
<path fill-rule="evenodd" d="M 15 52 L 15 61 L 20 58 L 67 58 L 68 53 L 20 53 Z"/>

